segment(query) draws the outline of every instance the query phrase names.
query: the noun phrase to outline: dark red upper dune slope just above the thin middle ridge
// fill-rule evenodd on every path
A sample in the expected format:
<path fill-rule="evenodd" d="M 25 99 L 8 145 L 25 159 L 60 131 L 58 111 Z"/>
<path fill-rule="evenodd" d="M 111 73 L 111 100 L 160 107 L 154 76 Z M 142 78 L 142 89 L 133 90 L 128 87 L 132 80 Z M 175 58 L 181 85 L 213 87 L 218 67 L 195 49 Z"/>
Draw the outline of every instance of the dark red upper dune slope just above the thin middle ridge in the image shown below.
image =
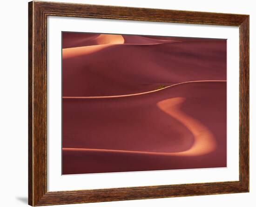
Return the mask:
<path fill-rule="evenodd" d="M 66 48 L 62 55 L 63 96 L 122 95 L 191 80 L 226 80 L 224 40 L 96 45 Z"/>

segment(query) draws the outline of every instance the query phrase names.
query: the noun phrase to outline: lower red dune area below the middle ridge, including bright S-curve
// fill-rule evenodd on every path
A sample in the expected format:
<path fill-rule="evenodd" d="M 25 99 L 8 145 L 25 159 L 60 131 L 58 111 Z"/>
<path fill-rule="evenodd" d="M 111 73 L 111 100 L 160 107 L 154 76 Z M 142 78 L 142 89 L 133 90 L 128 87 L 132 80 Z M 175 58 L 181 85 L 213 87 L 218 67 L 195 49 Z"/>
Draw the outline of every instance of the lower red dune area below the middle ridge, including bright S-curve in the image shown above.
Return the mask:
<path fill-rule="evenodd" d="M 226 167 L 224 81 L 126 97 L 63 99 L 62 110 L 63 174 Z M 214 142 L 201 146 L 201 154 L 180 154 L 205 136 Z"/>

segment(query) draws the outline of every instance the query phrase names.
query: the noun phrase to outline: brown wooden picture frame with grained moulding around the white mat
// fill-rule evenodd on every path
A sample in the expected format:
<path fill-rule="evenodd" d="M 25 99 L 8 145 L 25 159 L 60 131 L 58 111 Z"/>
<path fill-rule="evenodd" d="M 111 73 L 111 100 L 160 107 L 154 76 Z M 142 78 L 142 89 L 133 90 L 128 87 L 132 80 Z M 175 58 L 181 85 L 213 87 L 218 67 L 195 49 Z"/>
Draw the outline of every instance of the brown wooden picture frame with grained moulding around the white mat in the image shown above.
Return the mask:
<path fill-rule="evenodd" d="M 31 206 L 249 192 L 249 15 L 31 1 L 28 3 L 28 203 Z M 238 26 L 239 181 L 47 192 L 47 16 Z"/>

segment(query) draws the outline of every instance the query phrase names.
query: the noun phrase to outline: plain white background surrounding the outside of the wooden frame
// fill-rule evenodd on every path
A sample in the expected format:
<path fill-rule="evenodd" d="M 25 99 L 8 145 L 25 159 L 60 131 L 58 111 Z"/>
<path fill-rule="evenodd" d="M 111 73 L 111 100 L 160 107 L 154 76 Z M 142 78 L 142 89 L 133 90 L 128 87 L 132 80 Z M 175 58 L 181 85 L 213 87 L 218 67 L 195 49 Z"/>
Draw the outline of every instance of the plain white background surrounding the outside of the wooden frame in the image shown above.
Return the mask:
<path fill-rule="evenodd" d="M 62 0 L 65 1 L 65 0 Z M 256 77 L 256 14 L 251 0 L 67 0 L 67 2 L 117 5 L 129 7 L 153 7 L 178 10 L 194 10 L 222 13 L 250 14 L 250 77 Z M 3 1 L 1 3 L 1 206 L 25 206 L 27 203 L 27 0 Z M 84 207 L 122 207 L 122 206 L 186 206 L 216 207 L 216 205 L 254 206 L 256 196 L 256 122 L 255 81 L 250 84 L 250 193 L 208 195 L 153 200 L 118 201 L 69 206 Z"/>

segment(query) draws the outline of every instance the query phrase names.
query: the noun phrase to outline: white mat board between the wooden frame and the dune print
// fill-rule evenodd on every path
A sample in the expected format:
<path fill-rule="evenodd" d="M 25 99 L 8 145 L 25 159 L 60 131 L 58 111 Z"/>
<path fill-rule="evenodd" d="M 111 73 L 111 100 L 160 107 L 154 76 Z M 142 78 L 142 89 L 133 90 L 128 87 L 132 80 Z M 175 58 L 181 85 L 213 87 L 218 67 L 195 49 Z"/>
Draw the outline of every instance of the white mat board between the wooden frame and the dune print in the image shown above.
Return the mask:
<path fill-rule="evenodd" d="M 239 180 L 238 27 L 57 16 L 48 17 L 47 24 L 48 191 Z M 61 176 L 61 31 L 227 39 L 227 167 Z"/>

